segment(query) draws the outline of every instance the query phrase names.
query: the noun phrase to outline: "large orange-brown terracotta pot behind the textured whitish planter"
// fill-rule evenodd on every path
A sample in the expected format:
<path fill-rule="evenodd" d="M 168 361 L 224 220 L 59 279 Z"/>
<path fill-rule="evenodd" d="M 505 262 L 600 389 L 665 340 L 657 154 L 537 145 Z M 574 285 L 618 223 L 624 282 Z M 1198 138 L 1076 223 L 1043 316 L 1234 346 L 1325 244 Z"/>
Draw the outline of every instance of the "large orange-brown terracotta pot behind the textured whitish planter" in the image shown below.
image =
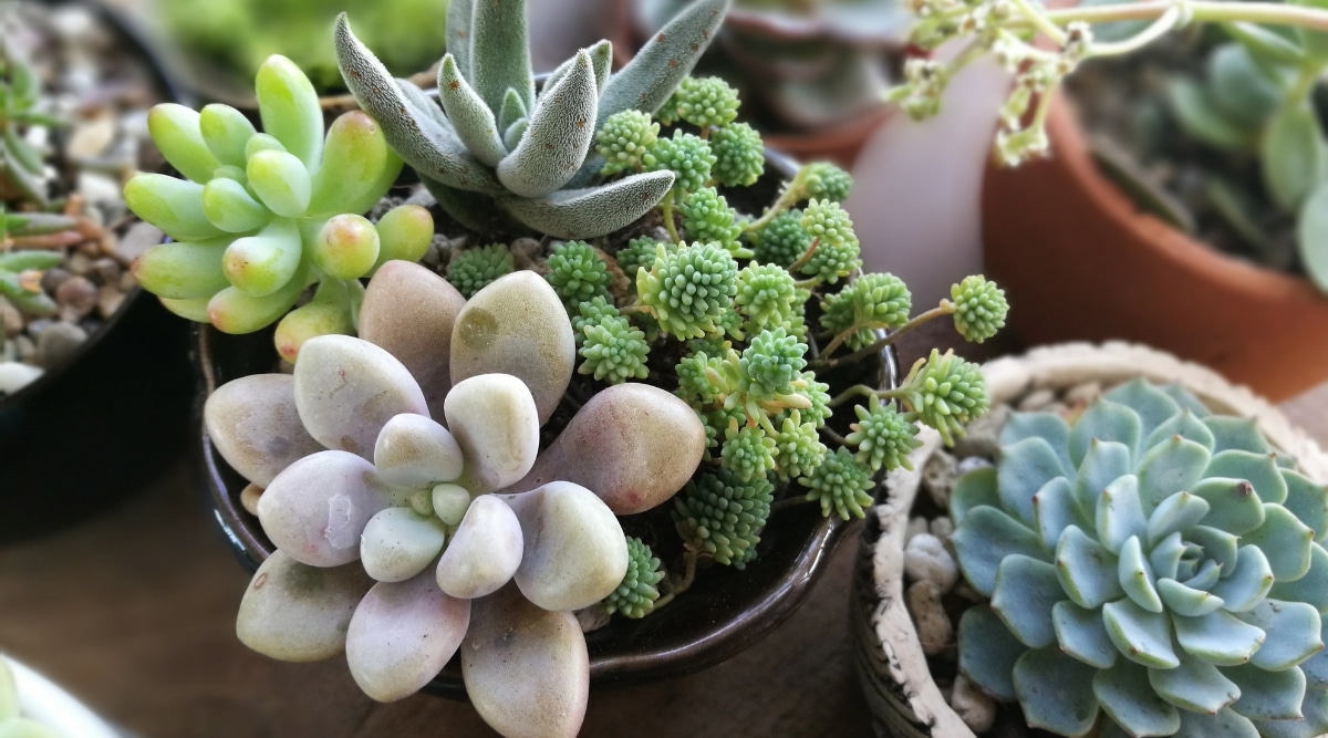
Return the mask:
<path fill-rule="evenodd" d="M 1328 297 L 1139 212 L 1094 166 L 1062 101 L 1050 159 L 989 169 L 987 275 L 1025 344 L 1123 338 L 1198 361 L 1279 401 L 1328 378 Z"/>

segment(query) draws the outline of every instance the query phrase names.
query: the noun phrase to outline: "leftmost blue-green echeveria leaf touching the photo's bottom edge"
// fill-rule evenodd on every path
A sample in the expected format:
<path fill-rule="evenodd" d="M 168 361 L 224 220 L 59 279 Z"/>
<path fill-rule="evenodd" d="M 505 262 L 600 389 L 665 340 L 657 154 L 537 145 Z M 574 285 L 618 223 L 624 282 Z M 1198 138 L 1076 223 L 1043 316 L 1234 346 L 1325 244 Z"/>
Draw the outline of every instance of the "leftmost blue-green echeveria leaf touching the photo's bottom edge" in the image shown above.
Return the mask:
<path fill-rule="evenodd" d="M 1015 662 L 1015 693 L 1032 727 L 1084 735 L 1097 721 L 1093 672 L 1056 648 L 1029 650 Z"/>

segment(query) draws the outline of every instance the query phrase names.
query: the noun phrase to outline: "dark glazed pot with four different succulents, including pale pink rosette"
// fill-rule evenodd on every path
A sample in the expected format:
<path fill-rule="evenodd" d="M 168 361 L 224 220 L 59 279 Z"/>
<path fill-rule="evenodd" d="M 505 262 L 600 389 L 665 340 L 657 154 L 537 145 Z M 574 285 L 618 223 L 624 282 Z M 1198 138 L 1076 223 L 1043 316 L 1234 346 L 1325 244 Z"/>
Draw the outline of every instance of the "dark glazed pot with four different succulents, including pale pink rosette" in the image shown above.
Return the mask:
<path fill-rule="evenodd" d="M 938 317 L 985 340 L 1001 292 L 969 277 L 911 316 L 900 280 L 861 273 L 843 170 L 762 178 L 736 92 L 688 77 L 725 9 L 688 7 L 612 74 L 607 42 L 582 50 L 537 92 L 522 4 L 454 1 L 438 102 L 341 16 L 363 113 L 325 138 L 280 58 L 267 133 L 154 113 L 194 181 L 127 186 L 179 239 L 137 268 L 211 323 L 205 453 L 258 567 L 246 644 L 344 650 L 377 700 L 463 688 L 503 734 L 574 734 L 591 677 L 700 668 L 777 624 L 916 423 L 951 438 L 983 413 L 972 364 L 932 352 L 883 388 L 882 352 Z M 408 204 L 360 216 L 402 161 Z M 417 202 L 438 218 L 388 246 Z M 235 350 L 272 323 L 291 374 Z"/>

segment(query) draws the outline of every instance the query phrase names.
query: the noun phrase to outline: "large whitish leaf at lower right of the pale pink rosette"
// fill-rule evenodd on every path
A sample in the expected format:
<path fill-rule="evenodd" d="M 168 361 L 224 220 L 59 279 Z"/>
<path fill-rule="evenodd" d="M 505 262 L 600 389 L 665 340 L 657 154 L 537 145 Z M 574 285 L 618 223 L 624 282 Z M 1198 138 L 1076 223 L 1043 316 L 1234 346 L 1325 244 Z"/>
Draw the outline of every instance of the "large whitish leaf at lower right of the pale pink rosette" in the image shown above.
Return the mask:
<path fill-rule="evenodd" d="M 618 516 L 595 492 L 571 482 L 550 482 L 503 499 L 525 535 L 514 579 L 531 603 L 551 611 L 580 609 L 622 584 L 627 538 Z"/>

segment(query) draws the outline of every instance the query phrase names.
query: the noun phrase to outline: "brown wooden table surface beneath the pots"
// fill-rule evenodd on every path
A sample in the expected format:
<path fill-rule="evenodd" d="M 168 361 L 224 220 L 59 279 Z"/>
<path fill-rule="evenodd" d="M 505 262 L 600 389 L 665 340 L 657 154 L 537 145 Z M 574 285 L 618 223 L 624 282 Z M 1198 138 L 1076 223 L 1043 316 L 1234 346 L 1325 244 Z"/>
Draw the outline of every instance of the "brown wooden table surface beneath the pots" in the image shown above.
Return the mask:
<path fill-rule="evenodd" d="M 1328 385 L 1282 407 L 1328 441 Z M 854 548 L 850 535 L 807 604 L 738 657 L 592 693 L 582 734 L 870 737 L 847 633 Z M 0 649 L 142 738 L 495 735 L 466 703 L 376 703 L 341 660 L 250 652 L 234 634 L 247 581 L 181 463 L 106 516 L 0 548 Z"/>

